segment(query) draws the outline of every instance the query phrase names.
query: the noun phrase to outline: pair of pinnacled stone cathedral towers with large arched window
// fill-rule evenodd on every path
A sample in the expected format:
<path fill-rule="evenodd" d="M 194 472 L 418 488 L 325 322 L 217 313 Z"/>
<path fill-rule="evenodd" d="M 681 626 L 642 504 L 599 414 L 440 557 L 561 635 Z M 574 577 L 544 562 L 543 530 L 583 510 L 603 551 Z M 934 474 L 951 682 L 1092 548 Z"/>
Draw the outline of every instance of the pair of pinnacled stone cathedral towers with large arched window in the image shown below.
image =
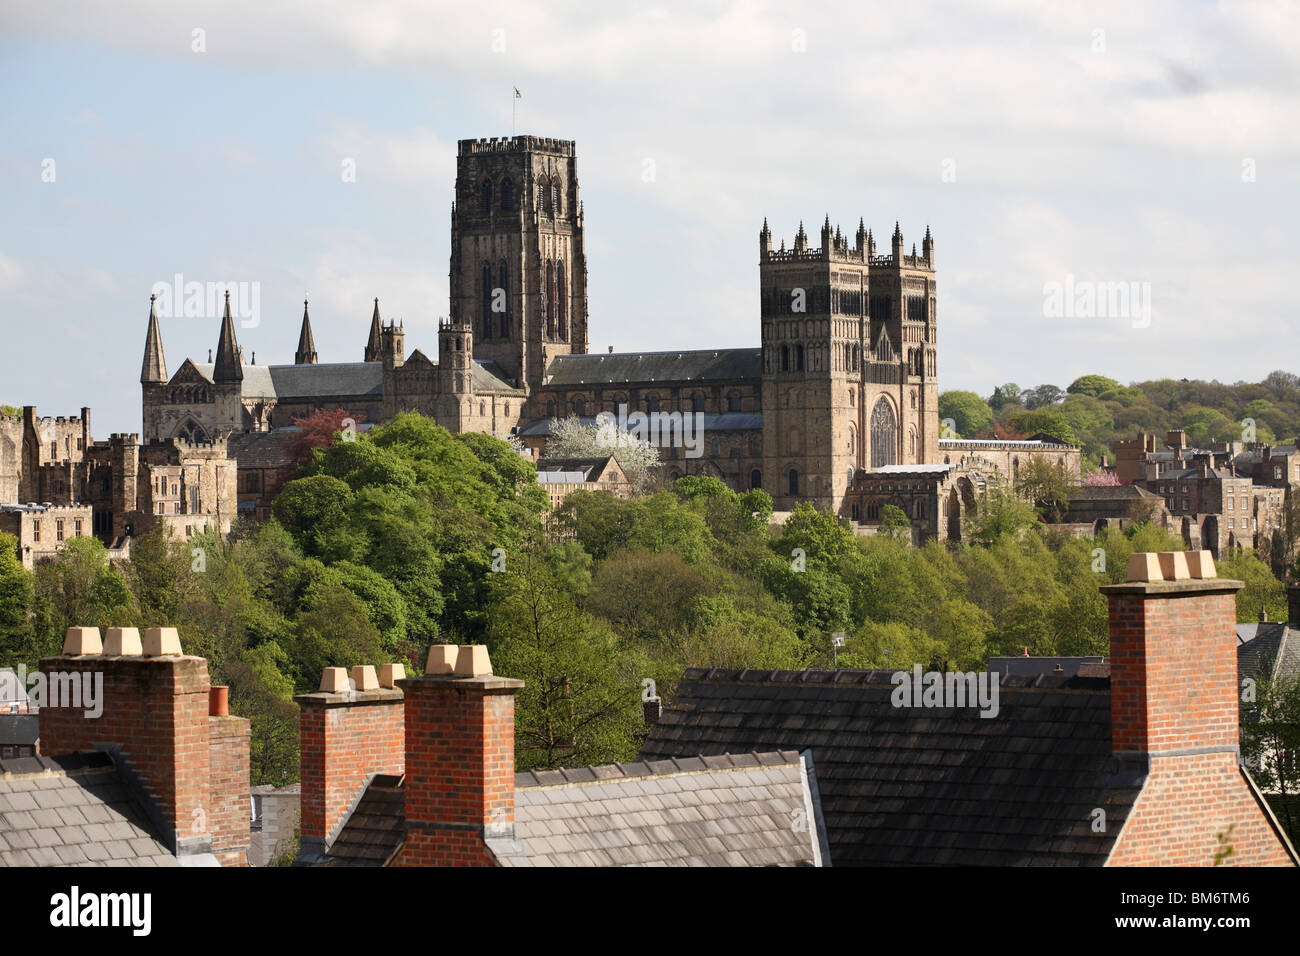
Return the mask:
<path fill-rule="evenodd" d="M 777 510 L 841 510 L 859 470 L 939 460 L 933 241 L 876 255 L 862 221 L 849 245 L 831 217 L 786 250 L 759 233 L 763 486 Z"/>

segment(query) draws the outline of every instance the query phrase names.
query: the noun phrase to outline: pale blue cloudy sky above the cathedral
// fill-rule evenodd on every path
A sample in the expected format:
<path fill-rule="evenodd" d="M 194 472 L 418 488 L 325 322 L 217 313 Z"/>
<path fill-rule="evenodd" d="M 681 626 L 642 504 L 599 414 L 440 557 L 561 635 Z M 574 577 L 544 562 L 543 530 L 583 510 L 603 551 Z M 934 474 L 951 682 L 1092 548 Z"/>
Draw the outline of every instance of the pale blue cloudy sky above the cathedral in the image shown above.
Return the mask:
<path fill-rule="evenodd" d="M 322 362 L 374 297 L 433 355 L 456 140 L 512 122 L 577 143 L 593 351 L 757 346 L 763 219 L 829 215 L 930 226 L 941 390 L 1258 381 L 1300 371 L 1297 81 L 1296 3 L 6 0 L 0 402 L 139 431 L 177 274 L 256 287 L 259 364 L 306 297 Z M 176 312 L 169 373 L 220 325 Z"/>

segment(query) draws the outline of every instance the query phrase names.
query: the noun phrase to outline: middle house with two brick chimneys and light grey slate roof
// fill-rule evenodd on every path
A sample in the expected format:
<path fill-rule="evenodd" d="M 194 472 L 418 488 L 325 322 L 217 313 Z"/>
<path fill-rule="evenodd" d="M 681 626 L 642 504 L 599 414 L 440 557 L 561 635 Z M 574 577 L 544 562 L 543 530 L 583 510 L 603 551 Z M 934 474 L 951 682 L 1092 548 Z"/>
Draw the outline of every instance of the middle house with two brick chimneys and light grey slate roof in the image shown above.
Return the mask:
<path fill-rule="evenodd" d="M 302 865 L 824 866 L 811 757 L 792 749 L 515 773 L 515 693 L 488 649 L 424 676 L 326 669 L 302 695 Z"/>

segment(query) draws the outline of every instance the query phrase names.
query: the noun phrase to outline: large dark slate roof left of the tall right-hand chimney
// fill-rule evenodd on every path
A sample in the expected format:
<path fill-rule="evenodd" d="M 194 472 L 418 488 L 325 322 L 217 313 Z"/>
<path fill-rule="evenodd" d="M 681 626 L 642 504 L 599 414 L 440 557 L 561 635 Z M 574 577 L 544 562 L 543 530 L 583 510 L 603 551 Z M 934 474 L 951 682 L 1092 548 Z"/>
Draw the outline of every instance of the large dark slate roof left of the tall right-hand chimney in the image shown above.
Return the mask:
<path fill-rule="evenodd" d="M 982 718 L 894 708 L 892 674 L 688 670 L 641 758 L 810 749 L 836 866 L 1106 861 L 1143 783 L 1112 763 L 1109 680 L 1004 676 Z"/>

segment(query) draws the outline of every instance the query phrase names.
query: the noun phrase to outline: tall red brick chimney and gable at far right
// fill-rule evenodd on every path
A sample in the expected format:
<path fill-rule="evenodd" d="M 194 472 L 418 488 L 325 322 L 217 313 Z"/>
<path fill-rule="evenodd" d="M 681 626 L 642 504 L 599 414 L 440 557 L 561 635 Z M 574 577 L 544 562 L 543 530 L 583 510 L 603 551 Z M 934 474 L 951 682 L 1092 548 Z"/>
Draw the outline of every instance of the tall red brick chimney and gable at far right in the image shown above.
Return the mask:
<path fill-rule="evenodd" d="M 1110 602 L 1112 866 L 1294 865 L 1238 749 L 1236 592 L 1209 551 L 1134 554 Z"/>

